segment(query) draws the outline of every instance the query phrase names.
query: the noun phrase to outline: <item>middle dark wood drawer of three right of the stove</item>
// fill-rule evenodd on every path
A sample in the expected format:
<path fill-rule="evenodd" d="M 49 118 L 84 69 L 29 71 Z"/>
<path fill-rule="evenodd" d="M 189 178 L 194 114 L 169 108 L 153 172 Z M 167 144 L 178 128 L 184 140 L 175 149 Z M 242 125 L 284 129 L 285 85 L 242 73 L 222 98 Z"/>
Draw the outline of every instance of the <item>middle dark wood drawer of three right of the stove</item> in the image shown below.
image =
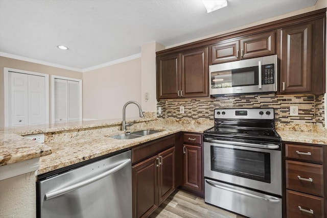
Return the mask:
<path fill-rule="evenodd" d="M 286 188 L 323 197 L 323 166 L 287 160 Z"/>

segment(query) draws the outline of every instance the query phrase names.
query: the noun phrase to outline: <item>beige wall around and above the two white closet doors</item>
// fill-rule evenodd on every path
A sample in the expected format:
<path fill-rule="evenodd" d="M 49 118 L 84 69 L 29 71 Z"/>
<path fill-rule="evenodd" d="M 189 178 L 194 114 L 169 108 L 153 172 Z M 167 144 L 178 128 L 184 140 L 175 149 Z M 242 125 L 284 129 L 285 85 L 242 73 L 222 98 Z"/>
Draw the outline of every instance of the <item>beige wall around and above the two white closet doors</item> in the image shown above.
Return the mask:
<path fill-rule="evenodd" d="M 49 76 L 49 120 L 51 120 L 51 75 L 69 77 L 75 79 L 82 79 L 83 75 L 81 72 L 62 69 L 58 67 L 46 66 L 42 64 L 36 64 L 27 61 L 16 60 L 12 58 L 6 58 L 0 56 L 0 127 L 5 124 L 5 108 L 4 108 L 4 67 L 27 70 L 32 72 L 40 72 L 42 74 L 48 74 Z"/>

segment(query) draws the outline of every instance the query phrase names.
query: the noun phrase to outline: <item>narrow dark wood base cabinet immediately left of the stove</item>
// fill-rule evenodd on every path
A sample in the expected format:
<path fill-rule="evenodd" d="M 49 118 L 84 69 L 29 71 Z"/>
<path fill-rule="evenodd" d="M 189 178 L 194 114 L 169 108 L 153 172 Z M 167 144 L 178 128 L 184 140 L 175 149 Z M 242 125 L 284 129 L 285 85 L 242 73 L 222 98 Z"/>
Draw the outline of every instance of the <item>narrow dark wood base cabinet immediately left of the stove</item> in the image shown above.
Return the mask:
<path fill-rule="evenodd" d="M 202 135 L 184 133 L 183 140 L 183 184 L 189 191 L 199 196 L 203 191 Z"/>

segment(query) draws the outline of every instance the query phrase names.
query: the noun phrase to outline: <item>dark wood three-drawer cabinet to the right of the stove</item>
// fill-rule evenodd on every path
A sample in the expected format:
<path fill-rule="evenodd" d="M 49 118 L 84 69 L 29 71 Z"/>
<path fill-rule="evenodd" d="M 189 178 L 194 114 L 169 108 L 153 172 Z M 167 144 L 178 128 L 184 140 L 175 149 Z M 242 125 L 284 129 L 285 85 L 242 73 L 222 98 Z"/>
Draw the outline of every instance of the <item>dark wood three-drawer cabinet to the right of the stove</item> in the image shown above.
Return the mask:
<path fill-rule="evenodd" d="M 327 151 L 318 144 L 285 142 L 287 217 L 324 217 L 327 213 Z"/>

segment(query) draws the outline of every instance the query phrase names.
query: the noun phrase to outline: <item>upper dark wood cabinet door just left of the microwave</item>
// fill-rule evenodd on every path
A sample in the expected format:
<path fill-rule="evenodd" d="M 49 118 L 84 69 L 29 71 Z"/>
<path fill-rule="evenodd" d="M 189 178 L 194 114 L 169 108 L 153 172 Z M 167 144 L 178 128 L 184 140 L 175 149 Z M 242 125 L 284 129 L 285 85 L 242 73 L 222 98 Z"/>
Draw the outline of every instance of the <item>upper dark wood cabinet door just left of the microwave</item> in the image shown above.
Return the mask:
<path fill-rule="evenodd" d="M 208 96 L 208 49 L 181 53 L 181 96 Z"/>

